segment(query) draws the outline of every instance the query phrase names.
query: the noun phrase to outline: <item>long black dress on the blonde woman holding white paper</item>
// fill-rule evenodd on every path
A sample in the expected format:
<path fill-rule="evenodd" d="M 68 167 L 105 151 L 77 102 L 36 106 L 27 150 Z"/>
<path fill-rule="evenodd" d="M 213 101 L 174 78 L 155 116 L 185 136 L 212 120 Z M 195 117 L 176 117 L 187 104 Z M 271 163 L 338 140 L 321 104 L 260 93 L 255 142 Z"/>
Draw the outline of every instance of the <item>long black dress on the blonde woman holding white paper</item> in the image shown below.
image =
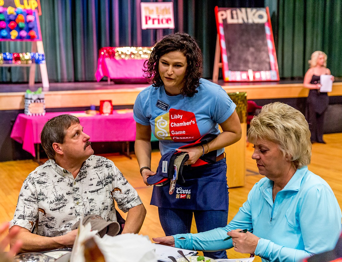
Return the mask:
<path fill-rule="evenodd" d="M 310 84 L 319 84 L 320 76 L 313 75 Z M 329 105 L 329 97 L 326 92 L 319 92 L 317 89 L 310 89 L 306 100 L 307 122 L 311 132 L 311 142 L 324 143 L 324 113 Z"/>

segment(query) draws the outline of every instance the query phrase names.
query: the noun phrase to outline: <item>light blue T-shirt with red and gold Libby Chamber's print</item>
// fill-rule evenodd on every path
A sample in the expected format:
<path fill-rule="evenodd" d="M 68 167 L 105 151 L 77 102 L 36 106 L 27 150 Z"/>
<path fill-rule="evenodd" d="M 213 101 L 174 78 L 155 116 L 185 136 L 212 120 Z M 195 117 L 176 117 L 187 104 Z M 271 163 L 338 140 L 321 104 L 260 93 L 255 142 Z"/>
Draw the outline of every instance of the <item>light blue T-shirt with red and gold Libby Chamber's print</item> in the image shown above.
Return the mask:
<path fill-rule="evenodd" d="M 236 105 L 226 91 L 206 79 L 200 79 L 193 97 L 168 96 L 163 86 L 149 86 L 134 103 L 134 120 L 151 126 L 159 140 L 161 155 L 199 139 L 205 134 L 220 134 L 219 123 L 227 120 Z M 224 149 L 219 149 L 217 155 Z"/>

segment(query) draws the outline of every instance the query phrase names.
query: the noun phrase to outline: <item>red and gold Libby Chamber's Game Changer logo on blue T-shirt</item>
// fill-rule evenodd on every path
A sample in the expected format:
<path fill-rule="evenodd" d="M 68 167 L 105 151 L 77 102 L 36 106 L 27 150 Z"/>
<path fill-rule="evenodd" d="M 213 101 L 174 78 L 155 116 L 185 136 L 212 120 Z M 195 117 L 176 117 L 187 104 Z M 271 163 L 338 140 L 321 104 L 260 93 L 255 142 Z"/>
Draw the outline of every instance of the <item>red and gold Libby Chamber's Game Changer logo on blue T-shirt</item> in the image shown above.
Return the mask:
<path fill-rule="evenodd" d="M 200 137 L 195 114 L 173 109 L 155 119 L 155 136 L 174 142 L 194 141 Z"/>

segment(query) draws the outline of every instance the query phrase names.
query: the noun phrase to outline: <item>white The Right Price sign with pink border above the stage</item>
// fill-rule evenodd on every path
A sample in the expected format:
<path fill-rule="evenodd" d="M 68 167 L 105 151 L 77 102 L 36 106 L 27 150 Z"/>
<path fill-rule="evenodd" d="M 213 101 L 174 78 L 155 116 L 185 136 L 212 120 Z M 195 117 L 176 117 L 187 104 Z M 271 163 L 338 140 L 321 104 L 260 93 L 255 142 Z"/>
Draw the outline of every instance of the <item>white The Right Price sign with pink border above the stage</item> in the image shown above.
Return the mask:
<path fill-rule="evenodd" d="M 174 28 L 173 2 L 140 3 L 141 28 Z"/>

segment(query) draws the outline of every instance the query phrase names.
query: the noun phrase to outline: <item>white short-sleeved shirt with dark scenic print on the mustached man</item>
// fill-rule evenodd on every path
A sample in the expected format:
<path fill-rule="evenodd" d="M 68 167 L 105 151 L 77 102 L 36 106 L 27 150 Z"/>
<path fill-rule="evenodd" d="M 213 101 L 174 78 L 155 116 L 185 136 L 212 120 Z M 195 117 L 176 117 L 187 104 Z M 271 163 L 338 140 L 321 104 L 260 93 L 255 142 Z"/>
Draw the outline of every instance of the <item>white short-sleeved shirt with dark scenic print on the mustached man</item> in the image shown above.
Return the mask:
<path fill-rule="evenodd" d="M 59 236 L 82 217 L 96 214 L 116 221 L 113 199 L 127 212 L 142 204 L 136 190 L 113 161 L 90 156 L 76 178 L 48 160 L 25 179 L 10 227 L 19 225 L 41 236 Z"/>

